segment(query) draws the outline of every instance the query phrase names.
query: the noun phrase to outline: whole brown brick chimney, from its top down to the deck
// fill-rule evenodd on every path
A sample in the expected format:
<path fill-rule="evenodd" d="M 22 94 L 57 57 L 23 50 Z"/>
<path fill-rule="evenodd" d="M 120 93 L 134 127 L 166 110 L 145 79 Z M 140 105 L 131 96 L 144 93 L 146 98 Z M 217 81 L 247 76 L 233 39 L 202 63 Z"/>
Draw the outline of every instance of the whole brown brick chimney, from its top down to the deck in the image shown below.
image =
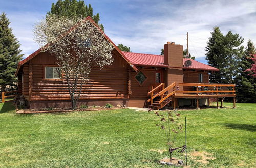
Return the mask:
<path fill-rule="evenodd" d="M 165 72 L 165 85 L 169 86 L 173 82 L 183 83 L 183 46 L 174 42 L 164 44 L 164 64 L 169 67 Z M 180 86 L 180 90 L 183 87 Z"/>

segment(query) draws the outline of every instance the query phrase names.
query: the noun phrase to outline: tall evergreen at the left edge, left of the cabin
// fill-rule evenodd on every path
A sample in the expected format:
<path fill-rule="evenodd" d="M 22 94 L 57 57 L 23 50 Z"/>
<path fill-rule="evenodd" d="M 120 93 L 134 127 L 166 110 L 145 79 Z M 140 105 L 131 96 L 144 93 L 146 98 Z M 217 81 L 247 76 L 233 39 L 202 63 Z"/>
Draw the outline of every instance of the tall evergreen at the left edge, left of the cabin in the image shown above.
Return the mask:
<path fill-rule="evenodd" d="M 22 59 L 19 42 L 9 27 L 10 22 L 5 13 L 0 15 L 0 85 L 1 91 L 6 85 L 13 85 L 17 82 L 14 76 L 18 62 Z"/>

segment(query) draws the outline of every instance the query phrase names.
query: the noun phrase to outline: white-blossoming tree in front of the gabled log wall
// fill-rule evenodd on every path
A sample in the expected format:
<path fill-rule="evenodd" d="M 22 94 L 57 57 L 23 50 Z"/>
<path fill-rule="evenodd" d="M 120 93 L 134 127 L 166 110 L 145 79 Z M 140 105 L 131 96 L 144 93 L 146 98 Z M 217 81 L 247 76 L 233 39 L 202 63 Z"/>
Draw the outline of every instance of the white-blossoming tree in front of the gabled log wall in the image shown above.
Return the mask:
<path fill-rule="evenodd" d="M 111 65 L 114 47 L 96 24 L 81 18 L 52 15 L 34 26 L 34 36 L 42 52 L 56 57 L 75 109 L 92 68 Z"/>

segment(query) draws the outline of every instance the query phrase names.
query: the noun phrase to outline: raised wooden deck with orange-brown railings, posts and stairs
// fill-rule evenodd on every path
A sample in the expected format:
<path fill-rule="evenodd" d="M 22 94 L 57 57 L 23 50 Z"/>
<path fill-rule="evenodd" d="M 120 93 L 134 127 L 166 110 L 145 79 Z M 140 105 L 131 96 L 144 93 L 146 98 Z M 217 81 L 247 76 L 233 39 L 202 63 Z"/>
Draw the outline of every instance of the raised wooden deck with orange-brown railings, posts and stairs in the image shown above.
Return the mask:
<path fill-rule="evenodd" d="M 180 86 L 194 87 L 195 90 L 179 90 Z M 176 98 L 197 99 L 197 109 L 199 109 L 199 98 L 217 98 L 217 107 L 219 107 L 219 98 L 221 98 L 221 107 L 224 97 L 233 97 L 234 108 L 236 107 L 236 91 L 234 84 L 217 84 L 217 83 L 172 83 L 168 87 L 164 87 L 164 83 L 148 92 L 150 99 L 150 108 L 161 109 L 171 101 L 174 102 L 176 108 Z M 183 88 L 183 87 L 182 87 Z"/>

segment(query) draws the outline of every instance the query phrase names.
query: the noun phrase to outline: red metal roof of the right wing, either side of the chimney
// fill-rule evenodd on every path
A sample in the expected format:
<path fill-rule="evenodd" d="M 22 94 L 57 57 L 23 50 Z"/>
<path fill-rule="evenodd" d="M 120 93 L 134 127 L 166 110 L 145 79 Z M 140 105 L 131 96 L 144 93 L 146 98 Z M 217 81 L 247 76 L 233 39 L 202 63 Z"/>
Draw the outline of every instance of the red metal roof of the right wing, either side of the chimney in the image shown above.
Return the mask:
<path fill-rule="evenodd" d="M 168 65 L 163 64 L 163 55 L 153 55 L 134 52 L 123 52 L 123 54 L 130 62 L 137 66 L 168 67 Z M 190 65 L 189 67 L 183 67 L 183 69 L 219 71 L 218 68 L 200 63 L 193 59 L 183 58 L 183 65 L 186 60 L 191 60 L 192 65 Z"/>

